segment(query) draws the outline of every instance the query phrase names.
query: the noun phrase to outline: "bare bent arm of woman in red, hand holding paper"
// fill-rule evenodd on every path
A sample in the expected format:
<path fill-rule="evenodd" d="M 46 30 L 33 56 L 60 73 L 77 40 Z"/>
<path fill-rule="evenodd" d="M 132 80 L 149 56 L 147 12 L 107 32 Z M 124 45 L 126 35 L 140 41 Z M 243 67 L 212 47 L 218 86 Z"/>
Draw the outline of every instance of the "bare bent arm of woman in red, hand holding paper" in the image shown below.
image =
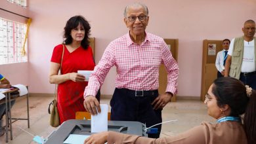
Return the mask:
<path fill-rule="evenodd" d="M 60 69 L 60 63 L 51 62 L 50 74 L 49 74 L 49 82 L 51 84 L 60 84 L 66 81 L 74 81 L 74 82 L 83 82 L 85 81 L 85 77 L 78 73 L 66 73 L 64 75 L 58 75 L 58 70 Z"/>

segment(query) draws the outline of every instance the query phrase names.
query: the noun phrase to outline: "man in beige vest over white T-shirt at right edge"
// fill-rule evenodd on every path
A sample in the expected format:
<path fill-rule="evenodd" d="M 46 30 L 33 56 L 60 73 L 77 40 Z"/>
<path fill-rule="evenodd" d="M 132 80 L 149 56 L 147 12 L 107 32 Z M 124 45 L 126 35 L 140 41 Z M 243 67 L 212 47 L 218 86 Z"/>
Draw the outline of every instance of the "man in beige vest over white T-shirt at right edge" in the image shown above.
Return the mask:
<path fill-rule="evenodd" d="M 242 30 L 244 36 L 232 39 L 230 43 L 224 77 L 235 77 L 256 90 L 255 22 L 247 20 Z"/>

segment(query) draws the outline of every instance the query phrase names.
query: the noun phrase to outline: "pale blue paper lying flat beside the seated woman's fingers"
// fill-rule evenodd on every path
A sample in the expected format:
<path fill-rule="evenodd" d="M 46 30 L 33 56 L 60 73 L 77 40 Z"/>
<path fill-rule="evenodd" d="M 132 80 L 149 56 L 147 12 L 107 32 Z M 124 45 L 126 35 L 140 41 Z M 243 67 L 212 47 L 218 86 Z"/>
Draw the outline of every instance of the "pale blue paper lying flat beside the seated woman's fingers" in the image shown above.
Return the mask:
<path fill-rule="evenodd" d="M 65 144 L 83 144 L 85 139 L 87 139 L 90 135 L 78 135 L 78 134 L 70 134 L 68 138 L 63 142 Z"/>

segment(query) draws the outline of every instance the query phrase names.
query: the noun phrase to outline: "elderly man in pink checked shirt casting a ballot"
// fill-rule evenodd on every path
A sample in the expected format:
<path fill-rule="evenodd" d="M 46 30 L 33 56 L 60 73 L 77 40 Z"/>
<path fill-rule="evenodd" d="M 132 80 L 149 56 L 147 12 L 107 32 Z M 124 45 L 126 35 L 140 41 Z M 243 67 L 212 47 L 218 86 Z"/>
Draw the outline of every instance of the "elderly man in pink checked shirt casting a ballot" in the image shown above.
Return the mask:
<path fill-rule="evenodd" d="M 96 115 L 100 104 L 95 98 L 111 67 L 116 66 L 116 89 L 110 101 L 111 120 L 139 121 L 146 127 L 162 122 L 161 110 L 177 93 L 179 68 L 161 37 L 147 33 L 148 7 L 133 3 L 125 7 L 124 22 L 129 33 L 112 41 L 106 48 L 84 92 L 85 109 Z M 167 88 L 158 94 L 159 67 L 168 73 Z M 158 138 L 157 134 L 148 137 Z"/>

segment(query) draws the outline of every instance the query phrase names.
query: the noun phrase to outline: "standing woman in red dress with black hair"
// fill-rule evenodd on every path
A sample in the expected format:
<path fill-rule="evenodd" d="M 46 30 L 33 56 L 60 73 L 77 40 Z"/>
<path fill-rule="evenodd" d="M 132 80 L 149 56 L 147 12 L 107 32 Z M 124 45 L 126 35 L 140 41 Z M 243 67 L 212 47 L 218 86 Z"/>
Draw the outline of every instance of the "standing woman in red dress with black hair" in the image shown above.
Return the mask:
<path fill-rule="evenodd" d="M 93 71 L 95 67 L 93 51 L 89 46 L 90 29 L 89 22 L 83 16 L 73 16 L 64 27 L 64 44 L 55 46 L 53 50 L 49 81 L 51 84 L 58 84 L 60 124 L 74 119 L 76 111 L 85 111 L 83 92 L 88 82 L 77 71 Z M 61 75 L 58 75 L 59 69 Z"/>

